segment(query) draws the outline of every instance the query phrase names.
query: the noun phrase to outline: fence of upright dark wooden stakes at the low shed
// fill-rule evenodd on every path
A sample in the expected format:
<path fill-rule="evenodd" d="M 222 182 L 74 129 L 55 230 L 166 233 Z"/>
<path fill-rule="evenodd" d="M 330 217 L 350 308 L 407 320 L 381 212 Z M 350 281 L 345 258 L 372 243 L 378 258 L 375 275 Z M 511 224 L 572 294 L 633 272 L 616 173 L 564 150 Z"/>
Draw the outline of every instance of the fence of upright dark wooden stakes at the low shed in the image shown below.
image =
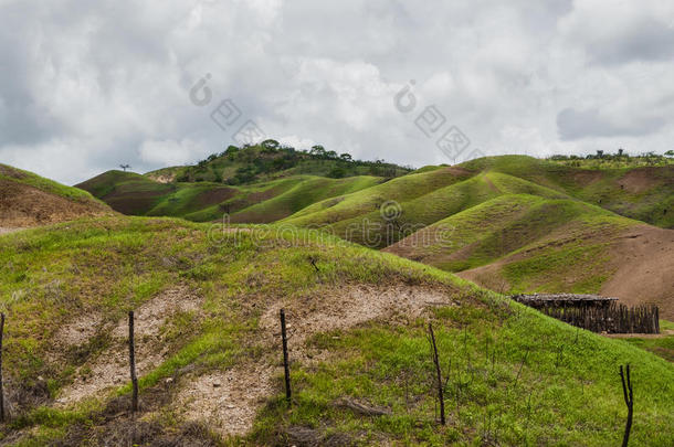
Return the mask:
<path fill-rule="evenodd" d="M 657 306 L 628 307 L 612 302 L 605 307 L 544 306 L 544 313 L 593 332 L 660 333 Z"/>

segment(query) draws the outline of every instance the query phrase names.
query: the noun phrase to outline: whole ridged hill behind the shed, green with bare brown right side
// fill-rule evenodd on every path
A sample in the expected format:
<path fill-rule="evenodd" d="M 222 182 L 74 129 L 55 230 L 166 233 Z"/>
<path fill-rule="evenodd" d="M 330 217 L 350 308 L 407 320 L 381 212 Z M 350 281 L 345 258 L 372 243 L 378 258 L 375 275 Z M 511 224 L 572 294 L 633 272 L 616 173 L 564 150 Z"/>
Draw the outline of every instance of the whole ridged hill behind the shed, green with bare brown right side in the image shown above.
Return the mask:
<path fill-rule="evenodd" d="M 600 292 L 674 318 L 674 231 L 571 199 L 501 195 L 385 251 L 502 292 Z"/>

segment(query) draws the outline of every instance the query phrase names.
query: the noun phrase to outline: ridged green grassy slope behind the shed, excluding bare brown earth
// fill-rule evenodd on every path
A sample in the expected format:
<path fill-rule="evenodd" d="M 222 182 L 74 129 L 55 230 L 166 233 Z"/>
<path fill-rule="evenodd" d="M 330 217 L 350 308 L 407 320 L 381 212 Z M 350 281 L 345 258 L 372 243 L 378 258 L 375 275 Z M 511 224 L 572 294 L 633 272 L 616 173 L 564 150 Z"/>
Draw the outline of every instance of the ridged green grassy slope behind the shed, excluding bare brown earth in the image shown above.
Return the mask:
<path fill-rule="evenodd" d="M 607 247 L 638 225 L 576 200 L 504 194 L 426 226 L 387 251 L 450 272 L 508 258 L 504 275 L 489 284 L 508 292 L 598 292 L 613 273 Z"/>

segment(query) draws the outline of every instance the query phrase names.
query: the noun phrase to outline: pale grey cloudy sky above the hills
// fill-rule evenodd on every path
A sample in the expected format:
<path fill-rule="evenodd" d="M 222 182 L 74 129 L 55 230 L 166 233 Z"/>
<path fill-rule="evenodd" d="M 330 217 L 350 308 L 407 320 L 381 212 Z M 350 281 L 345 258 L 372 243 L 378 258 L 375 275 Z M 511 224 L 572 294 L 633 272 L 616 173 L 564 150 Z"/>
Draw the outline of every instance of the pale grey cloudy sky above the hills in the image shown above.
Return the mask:
<path fill-rule="evenodd" d="M 253 135 L 414 167 L 664 152 L 674 2 L 0 0 L 0 162 L 73 184 Z"/>

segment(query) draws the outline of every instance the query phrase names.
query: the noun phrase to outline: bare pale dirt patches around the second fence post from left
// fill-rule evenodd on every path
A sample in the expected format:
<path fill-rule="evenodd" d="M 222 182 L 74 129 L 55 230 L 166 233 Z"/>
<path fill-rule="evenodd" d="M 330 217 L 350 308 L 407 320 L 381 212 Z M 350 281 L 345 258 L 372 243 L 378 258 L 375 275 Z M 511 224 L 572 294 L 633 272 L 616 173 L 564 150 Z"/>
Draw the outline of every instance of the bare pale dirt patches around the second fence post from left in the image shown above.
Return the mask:
<path fill-rule="evenodd" d="M 168 356 L 169 345 L 161 339 L 165 322 L 178 311 L 198 311 L 201 299 L 187 287 L 166 290 L 135 311 L 137 372 L 143 376 L 159 366 Z M 86 315 L 65 326 L 55 337 L 59 343 L 81 345 L 96 333 L 101 321 L 95 315 Z M 108 329 L 109 330 L 109 329 Z M 101 397 L 105 391 L 129 381 L 128 320 L 112 328 L 113 343 L 92 362 L 80 368 L 75 380 L 65 386 L 56 401 L 67 406 L 85 397 Z"/>

